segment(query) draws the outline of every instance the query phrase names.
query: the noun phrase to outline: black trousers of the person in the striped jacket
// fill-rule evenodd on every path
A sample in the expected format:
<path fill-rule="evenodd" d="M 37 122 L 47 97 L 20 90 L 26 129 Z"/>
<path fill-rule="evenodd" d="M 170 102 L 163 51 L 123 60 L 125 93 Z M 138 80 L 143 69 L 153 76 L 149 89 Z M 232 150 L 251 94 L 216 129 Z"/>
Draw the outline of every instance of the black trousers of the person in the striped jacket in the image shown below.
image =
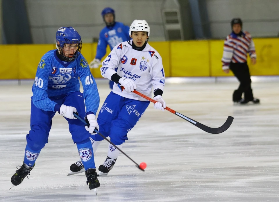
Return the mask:
<path fill-rule="evenodd" d="M 242 93 L 244 93 L 244 99 L 249 101 L 253 100 L 251 78 L 247 63 L 230 62 L 230 70 L 232 70 L 233 74 L 240 82 L 238 89 L 232 94 L 232 101 L 239 101 L 242 99 Z"/>

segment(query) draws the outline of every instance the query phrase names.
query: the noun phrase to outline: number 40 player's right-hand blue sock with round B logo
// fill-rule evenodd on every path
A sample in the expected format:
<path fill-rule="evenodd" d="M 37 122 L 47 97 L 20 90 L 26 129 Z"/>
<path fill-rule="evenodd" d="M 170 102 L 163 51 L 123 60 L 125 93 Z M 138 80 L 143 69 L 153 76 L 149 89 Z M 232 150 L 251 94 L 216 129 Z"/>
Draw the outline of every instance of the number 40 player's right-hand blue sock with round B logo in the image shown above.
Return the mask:
<path fill-rule="evenodd" d="M 76 146 L 83 162 L 84 169 L 87 170 L 89 168 L 96 168 L 94 162 L 94 153 L 92 152 L 92 144 L 89 138 L 88 142 L 85 142 L 83 144 L 76 144 Z"/>

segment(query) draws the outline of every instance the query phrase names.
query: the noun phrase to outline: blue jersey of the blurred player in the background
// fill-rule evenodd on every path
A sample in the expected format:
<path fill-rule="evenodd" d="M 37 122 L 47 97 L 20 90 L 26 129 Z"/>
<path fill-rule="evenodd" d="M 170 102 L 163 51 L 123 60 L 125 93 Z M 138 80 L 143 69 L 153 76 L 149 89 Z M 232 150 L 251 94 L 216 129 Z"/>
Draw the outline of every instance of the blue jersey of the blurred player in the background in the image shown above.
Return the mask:
<path fill-rule="evenodd" d="M 111 28 L 107 26 L 102 29 L 99 36 L 97 53 L 95 58 L 101 60 L 105 56 L 107 45 L 112 50 L 117 44 L 129 40 L 129 27 L 121 22 L 115 22 Z"/>

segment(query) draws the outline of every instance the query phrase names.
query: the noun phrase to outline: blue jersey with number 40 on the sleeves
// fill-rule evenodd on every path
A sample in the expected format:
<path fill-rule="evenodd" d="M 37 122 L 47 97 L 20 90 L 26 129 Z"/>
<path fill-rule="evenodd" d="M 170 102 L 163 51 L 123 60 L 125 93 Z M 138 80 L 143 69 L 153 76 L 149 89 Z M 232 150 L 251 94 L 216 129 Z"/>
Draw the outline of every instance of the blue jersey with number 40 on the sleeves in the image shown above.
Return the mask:
<path fill-rule="evenodd" d="M 57 103 L 49 97 L 79 91 L 80 77 L 86 112 L 96 114 L 100 96 L 87 61 L 80 54 L 74 61 L 64 62 L 56 56 L 56 51 L 48 51 L 39 62 L 32 86 L 34 105 L 45 111 L 57 111 L 54 109 Z"/>

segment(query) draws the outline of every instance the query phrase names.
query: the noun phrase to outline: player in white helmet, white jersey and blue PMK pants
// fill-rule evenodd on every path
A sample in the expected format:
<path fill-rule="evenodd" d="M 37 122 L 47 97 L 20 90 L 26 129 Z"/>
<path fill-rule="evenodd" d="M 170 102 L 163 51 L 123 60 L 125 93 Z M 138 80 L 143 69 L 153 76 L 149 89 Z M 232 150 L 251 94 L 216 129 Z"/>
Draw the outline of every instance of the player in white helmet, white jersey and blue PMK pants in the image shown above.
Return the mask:
<path fill-rule="evenodd" d="M 130 26 L 131 40 L 122 42 L 112 49 L 108 57 L 102 62 L 101 74 L 114 81 L 112 92 L 107 96 L 97 122 L 99 132 L 110 141 L 122 148 L 127 133 L 135 126 L 149 105 L 142 97 L 133 93 L 133 90 L 151 96 L 153 87 L 154 108 L 164 111 L 166 103 L 162 99 L 165 77 L 160 54 L 148 43 L 150 28 L 145 20 L 134 20 Z M 118 67 L 117 72 L 115 68 Z M 121 90 L 121 86 L 125 90 Z M 93 153 L 103 140 L 96 134 L 91 135 Z M 107 175 L 112 169 L 119 155 L 119 150 L 112 144 L 108 148 L 105 162 L 99 166 L 99 175 Z M 72 174 L 83 171 L 82 162 L 71 165 Z"/>

